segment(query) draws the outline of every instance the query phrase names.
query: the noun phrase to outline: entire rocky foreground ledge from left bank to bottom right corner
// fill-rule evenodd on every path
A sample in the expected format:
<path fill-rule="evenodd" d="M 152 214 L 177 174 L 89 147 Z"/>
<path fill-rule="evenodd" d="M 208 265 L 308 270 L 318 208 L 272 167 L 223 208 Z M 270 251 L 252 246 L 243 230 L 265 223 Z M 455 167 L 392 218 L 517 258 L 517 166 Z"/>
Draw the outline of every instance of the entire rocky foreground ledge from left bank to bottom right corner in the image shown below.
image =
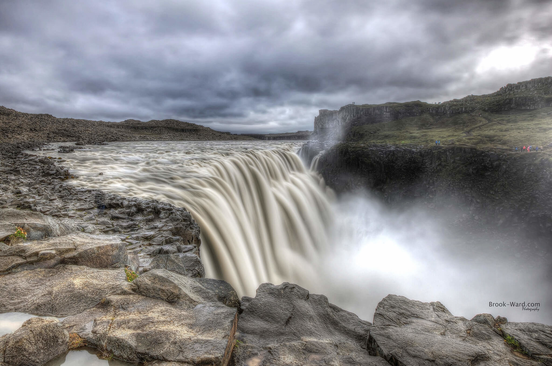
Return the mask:
<path fill-rule="evenodd" d="M 238 299 L 205 278 L 199 227 L 166 203 L 75 188 L 62 161 L 3 146 L 0 365 L 70 349 L 147 365 L 551 365 L 552 326 L 388 295 L 373 322 L 298 285 Z M 17 227 L 25 240 L 10 237 Z M 137 277 L 135 277 L 137 275 Z"/>

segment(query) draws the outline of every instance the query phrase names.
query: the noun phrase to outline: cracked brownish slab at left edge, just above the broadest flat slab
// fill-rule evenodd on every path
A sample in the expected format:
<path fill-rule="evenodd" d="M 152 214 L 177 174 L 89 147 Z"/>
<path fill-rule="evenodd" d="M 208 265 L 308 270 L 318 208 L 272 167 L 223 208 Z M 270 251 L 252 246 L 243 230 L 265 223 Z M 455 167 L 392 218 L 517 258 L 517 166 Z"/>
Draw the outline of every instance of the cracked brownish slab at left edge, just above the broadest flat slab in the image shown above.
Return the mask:
<path fill-rule="evenodd" d="M 116 236 L 73 232 L 60 237 L 26 241 L 0 251 L 0 274 L 15 270 L 76 264 L 91 268 L 124 267 L 128 254 Z"/>

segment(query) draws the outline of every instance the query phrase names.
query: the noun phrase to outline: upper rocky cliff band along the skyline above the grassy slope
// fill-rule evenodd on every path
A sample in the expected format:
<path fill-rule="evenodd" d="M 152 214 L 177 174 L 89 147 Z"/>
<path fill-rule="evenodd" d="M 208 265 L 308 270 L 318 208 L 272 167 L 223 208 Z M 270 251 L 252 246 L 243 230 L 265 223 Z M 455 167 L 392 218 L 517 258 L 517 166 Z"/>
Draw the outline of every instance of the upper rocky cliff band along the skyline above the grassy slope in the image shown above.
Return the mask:
<path fill-rule="evenodd" d="M 380 123 L 402 118 L 432 115 L 472 113 L 477 110 L 500 112 L 513 109 L 540 109 L 551 106 L 552 77 L 531 79 L 517 84 L 507 84 L 495 93 L 482 96 L 467 96 L 440 104 L 420 102 L 385 103 L 378 105 L 348 104 L 339 110 L 321 109 L 314 119 L 317 135 L 333 134 L 339 140 L 354 126 Z"/>

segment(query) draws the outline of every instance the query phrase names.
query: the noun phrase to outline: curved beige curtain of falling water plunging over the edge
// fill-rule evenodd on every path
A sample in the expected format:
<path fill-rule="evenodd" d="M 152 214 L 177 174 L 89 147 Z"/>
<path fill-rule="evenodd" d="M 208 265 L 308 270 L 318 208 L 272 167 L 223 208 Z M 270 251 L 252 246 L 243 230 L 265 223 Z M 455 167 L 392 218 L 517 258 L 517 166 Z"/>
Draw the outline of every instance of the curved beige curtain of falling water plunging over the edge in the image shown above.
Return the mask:
<path fill-rule="evenodd" d="M 223 156 L 203 177 L 177 185 L 201 228 L 208 275 L 251 295 L 263 282 L 316 280 L 313 264 L 328 245 L 330 200 L 294 151 Z"/>

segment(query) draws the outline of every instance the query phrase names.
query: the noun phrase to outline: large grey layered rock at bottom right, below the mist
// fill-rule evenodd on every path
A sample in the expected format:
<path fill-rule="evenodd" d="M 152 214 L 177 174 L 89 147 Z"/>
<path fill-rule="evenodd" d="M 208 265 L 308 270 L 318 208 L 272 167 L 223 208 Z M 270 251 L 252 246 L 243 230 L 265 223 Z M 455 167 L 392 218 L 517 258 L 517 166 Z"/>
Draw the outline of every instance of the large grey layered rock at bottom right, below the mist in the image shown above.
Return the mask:
<path fill-rule="evenodd" d="M 514 352 L 490 326 L 450 314 L 439 303 L 388 295 L 374 314 L 370 354 L 392 365 L 542 365 Z"/>

